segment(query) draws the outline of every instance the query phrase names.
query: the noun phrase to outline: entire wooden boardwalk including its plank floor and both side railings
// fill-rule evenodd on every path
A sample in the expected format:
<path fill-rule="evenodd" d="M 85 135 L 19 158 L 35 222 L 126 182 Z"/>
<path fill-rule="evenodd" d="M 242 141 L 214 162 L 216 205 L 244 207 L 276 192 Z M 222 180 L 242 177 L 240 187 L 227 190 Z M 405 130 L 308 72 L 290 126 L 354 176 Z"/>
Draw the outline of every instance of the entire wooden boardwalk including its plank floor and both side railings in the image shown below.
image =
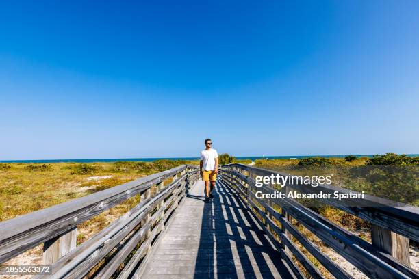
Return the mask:
<path fill-rule="evenodd" d="M 356 207 L 322 200 L 369 222 L 369 242 L 299 200 L 258 198 L 279 190 L 350 190 L 327 184 L 293 183 L 282 189 L 256 184 L 260 176 L 277 175 L 283 174 L 222 165 L 209 203 L 203 202 L 196 165 L 144 176 L 0 222 L 0 263 L 42 245 L 43 263 L 52 268 L 36 278 L 352 279 L 327 247 L 365 277 L 419 278 L 409 263 L 409 241 L 419 242 L 418 207 L 368 195 Z M 138 195 L 140 202 L 125 215 L 76 245 L 79 224 Z"/>

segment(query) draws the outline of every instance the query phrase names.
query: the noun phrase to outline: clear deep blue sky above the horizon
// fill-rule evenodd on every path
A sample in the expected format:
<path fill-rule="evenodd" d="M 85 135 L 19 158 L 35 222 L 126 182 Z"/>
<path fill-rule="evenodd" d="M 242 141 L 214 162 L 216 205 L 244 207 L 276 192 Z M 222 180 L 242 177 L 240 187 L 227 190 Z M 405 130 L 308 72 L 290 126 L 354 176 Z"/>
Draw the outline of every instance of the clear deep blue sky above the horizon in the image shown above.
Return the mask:
<path fill-rule="evenodd" d="M 0 159 L 419 152 L 419 1 L 5 2 Z"/>

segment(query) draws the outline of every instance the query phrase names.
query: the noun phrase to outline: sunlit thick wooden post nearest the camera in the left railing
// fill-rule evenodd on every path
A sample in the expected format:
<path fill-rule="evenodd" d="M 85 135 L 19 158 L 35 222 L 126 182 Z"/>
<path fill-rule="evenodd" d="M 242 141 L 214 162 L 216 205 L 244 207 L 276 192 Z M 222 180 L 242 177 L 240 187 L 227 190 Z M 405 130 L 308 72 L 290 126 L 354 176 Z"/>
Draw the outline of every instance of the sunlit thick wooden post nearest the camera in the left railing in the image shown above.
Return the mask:
<path fill-rule="evenodd" d="M 66 233 L 49 239 L 44 243 L 44 253 L 42 255 L 45 265 L 55 263 L 62 256 L 76 248 L 77 227 L 68 230 Z"/>

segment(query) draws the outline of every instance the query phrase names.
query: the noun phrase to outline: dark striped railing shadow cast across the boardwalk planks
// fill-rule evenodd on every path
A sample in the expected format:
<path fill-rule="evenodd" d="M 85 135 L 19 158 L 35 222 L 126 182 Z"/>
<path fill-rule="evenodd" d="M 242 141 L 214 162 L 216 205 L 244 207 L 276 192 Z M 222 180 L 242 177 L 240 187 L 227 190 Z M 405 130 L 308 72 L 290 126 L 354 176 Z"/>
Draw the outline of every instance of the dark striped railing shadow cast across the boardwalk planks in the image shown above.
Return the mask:
<path fill-rule="evenodd" d="M 213 193 L 203 208 L 194 278 L 290 278 L 236 192 L 218 178 Z"/>

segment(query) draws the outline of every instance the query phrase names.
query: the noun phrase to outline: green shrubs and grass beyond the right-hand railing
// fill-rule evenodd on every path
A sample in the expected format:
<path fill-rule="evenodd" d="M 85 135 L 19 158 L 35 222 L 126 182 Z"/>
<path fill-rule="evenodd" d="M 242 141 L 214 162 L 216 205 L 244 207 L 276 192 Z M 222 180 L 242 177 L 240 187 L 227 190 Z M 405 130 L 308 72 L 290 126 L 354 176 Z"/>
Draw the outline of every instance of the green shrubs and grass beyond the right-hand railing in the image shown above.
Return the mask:
<path fill-rule="evenodd" d="M 255 166 L 295 175 L 333 173 L 333 184 L 366 194 L 419 205 L 419 157 L 388 153 L 372 158 L 309 157 L 300 160 L 262 159 Z M 353 159 L 353 157 L 355 159 Z M 348 156 L 349 157 L 349 156 Z"/>

